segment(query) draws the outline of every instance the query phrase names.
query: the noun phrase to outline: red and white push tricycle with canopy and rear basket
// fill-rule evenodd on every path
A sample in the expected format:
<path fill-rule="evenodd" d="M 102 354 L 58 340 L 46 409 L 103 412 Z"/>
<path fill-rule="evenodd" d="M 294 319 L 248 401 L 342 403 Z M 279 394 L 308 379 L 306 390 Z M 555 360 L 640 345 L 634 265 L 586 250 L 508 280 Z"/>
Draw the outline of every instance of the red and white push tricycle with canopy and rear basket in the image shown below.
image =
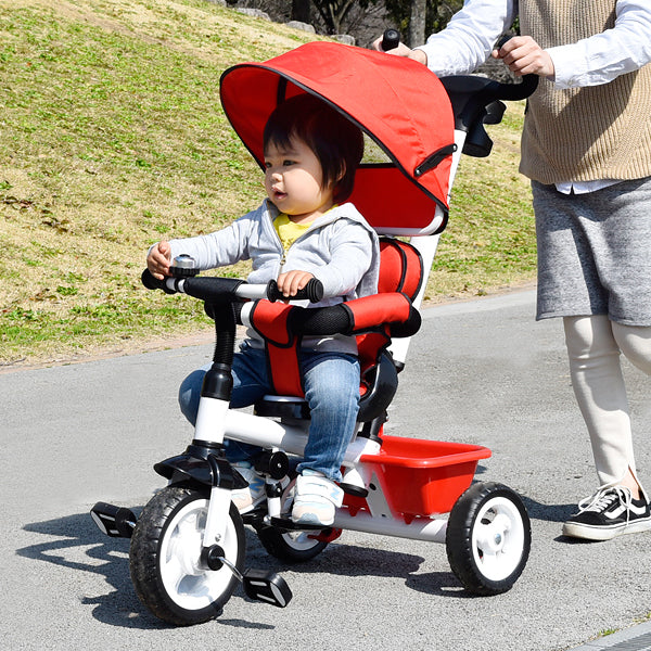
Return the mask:
<path fill-rule="evenodd" d="M 459 158 L 488 155 L 484 125 L 501 119 L 502 100 L 524 99 L 535 87 L 536 78 L 518 85 L 474 76 L 438 79 L 409 60 L 328 42 L 224 73 L 224 110 L 260 166 L 269 114 L 298 93 L 321 98 L 366 133 L 381 159 L 359 168 L 350 201 L 381 237 L 379 292 L 310 308 L 279 301 L 273 282 L 197 276 L 188 256 L 175 259 L 173 276 L 163 280 L 143 272 L 150 290 L 203 301 L 216 332 L 193 439 L 182 454 L 154 465 L 167 485 L 138 518 L 105 502 L 91 510 L 103 533 L 131 538 L 131 578 L 154 615 L 173 625 L 206 622 L 221 614 L 239 583 L 251 599 L 288 605 L 292 592 L 281 576 L 245 569 L 245 526 L 285 562 L 308 561 L 344 531 L 357 531 L 445 544 L 452 572 L 471 593 L 497 595 L 515 584 L 528 559 L 529 519 L 508 486 L 473 482 L 490 450 L 388 435 L 384 423 L 420 327 L 424 279 L 447 222 Z M 317 302 L 321 290 L 312 279 L 295 298 Z M 253 413 L 229 406 L 239 324 L 264 335 L 277 390 Z M 298 525 L 289 513 L 309 410 L 289 370 L 296 368 L 303 335 L 334 333 L 358 342 L 358 430 L 343 462 L 345 497 L 334 523 Z M 255 469 L 265 477 L 266 500 L 244 514 L 231 492 L 246 482 L 225 456 L 226 439 L 265 450 Z"/>

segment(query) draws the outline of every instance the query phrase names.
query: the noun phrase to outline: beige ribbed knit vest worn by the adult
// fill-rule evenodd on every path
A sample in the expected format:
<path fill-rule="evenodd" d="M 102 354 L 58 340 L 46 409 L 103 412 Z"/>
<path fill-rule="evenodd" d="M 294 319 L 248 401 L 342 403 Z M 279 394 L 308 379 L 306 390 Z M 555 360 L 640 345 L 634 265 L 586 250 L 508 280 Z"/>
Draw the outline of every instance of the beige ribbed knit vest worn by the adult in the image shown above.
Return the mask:
<path fill-rule="evenodd" d="M 520 0 L 520 27 L 542 48 L 573 43 L 615 23 L 616 0 Z M 601 86 L 529 98 L 520 171 L 550 184 L 651 176 L 651 64 Z"/>

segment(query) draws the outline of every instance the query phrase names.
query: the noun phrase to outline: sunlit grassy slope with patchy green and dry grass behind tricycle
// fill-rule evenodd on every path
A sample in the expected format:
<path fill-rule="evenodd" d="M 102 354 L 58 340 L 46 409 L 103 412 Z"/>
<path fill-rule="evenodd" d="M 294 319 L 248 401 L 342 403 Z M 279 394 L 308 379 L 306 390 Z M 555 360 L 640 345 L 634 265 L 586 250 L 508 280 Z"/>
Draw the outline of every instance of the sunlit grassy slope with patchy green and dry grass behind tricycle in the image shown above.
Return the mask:
<path fill-rule="evenodd" d="M 261 200 L 219 76 L 315 38 L 204 0 L 0 5 L 0 368 L 209 329 L 197 302 L 141 288 L 145 251 Z M 430 298 L 532 278 L 521 122 L 515 106 L 495 154 L 463 161 Z"/>

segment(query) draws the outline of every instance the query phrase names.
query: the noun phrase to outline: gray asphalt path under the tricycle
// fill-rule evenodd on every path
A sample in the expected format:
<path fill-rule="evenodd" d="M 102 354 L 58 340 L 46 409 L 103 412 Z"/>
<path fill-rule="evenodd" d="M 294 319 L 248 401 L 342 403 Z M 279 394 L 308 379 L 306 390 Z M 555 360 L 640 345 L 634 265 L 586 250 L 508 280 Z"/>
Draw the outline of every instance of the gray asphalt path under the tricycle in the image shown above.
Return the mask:
<path fill-rule="evenodd" d="M 344 532 L 291 566 L 250 532 L 247 564 L 282 574 L 294 592 L 286 609 L 238 591 L 210 623 L 157 621 L 132 589 L 128 540 L 103 537 L 88 511 L 97 500 L 140 507 L 163 485 L 153 463 L 192 436 L 176 392 L 209 358 L 200 345 L 0 374 L 2 649 L 557 651 L 646 617 L 648 534 L 591 544 L 560 535 L 596 487 L 560 321 L 534 321 L 532 292 L 423 316 L 387 431 L 493 450 L 476 478 L 518 490 L 532 518 L 529 562 L 511 591 L 469 596 L 438 544 Z M 651 381 L 625 371 L 651 485 Z"/>

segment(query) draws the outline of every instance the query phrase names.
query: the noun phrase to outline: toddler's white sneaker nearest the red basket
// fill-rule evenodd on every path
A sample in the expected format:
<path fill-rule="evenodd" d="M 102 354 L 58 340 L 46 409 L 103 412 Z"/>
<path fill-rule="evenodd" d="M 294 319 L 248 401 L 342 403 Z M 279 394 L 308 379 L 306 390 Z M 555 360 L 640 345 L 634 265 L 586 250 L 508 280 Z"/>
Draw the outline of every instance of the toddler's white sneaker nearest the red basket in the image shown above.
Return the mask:
<path fill-rule="evenodd" d="M 304 470 L 296 477 L 296 496 L 292 520 L 298 524 L 330 526 L 336 507 L 341 507 L 344 492 L 320 472 Z"/>

